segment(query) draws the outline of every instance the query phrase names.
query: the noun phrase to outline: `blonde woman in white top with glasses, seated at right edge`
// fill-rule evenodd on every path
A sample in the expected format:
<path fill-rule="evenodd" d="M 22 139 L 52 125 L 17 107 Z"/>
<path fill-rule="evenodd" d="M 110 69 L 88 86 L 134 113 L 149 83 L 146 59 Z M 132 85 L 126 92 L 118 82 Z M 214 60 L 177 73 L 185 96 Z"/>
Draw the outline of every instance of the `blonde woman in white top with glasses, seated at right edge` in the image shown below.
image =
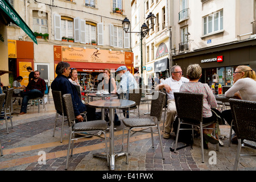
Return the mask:
<path fill-rule="evenodd" d="M 225 92 L 225 97 L 236 97 L 237 99 L 256 101 L 256 74 L 253 69 L 245 65 L 240 65 L 233 73 L 233 86 Z M 231 110 L 224 110 L 221 113 L 226 122 L 231 125 Z M 236 131 L 235 131 L 236 132 Z M 236 143 L 236 135 L 232 138 L 232 142 Z"/>

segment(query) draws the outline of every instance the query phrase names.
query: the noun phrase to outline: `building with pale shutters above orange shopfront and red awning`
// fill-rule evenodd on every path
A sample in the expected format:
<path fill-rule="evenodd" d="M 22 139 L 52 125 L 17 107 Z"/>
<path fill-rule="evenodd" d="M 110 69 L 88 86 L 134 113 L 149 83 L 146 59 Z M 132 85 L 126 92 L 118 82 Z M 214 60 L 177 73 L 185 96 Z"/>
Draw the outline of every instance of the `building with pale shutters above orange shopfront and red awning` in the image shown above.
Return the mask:
<path fill-rule="evenodd" d="M 34 0 L 11 1 L 14 9 L 38 36 L 35 44 L 10 24 L 8 29 L 9 69 L 14 79 L 27 77 L 26 67 L 39 70 L 51 84 L 59 61 L 68 61 L 79 72 L 82 85 L 109 68 L 126 65 L 133 72 L 130 38 L 122 20 L 130 16 L 130 2 L 124 0 Z M 15 55 L 16 54 L 16 55 Z M 23 79 L 26 84 L 27 79 Z"/>

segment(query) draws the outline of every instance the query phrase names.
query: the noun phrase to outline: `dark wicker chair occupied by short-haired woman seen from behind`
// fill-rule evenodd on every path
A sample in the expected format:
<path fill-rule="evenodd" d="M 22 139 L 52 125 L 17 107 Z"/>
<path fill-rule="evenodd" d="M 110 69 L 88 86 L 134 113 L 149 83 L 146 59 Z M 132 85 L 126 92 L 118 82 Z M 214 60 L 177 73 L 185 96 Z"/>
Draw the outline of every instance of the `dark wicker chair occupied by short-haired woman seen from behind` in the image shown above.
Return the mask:
<path fill-rule="evenodd" d="M 207 126 L 212 125 L 215 121 L 203 123 L 203 94 L 174 92 L 174 98 L 179 119 L 174 152 L 176 152 L 180 130 L 192 130 L 193 135 L 193 130 L 200 129 L 202 163 L 204 163 L 203 129 L 209 129 Z M 191 125 L 192 128 L 181 129 L 180 125 Z M 210 129 L 213 129 L 213 132 L 216 133 L 216 128 Z M 216 149 L 218 150 L 218 144 L 216 144 Z"/>

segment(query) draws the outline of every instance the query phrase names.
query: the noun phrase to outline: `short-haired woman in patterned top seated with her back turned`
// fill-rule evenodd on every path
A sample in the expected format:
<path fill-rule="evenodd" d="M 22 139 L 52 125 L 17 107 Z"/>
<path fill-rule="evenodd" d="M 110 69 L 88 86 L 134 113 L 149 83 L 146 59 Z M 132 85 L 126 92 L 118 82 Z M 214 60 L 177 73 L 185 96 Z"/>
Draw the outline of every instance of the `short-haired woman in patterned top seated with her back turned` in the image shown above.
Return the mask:
<path fill-rule="evenodd" d="M 203 100 L 203 123 L 216 121 L 216 114 L 211 108 L 217 107 L 217 101 L 210 87 L 207 84 L 202 84 L 199 79 L 202 76 L 202 69 L 199 64 L 191 64 L 187 68 L 187 77 L 189 82 L 184 83 L 180 87 L 180 92 L 200 93 L 204 94 Z M 216 123 L 209 125 L 209 128 L 214 128 Z M 208 142 L 212 144 L 219 143 L 218 139 L 212 136 L 213 129 L 204 129 L 204 148 L 208 148 Z"/>

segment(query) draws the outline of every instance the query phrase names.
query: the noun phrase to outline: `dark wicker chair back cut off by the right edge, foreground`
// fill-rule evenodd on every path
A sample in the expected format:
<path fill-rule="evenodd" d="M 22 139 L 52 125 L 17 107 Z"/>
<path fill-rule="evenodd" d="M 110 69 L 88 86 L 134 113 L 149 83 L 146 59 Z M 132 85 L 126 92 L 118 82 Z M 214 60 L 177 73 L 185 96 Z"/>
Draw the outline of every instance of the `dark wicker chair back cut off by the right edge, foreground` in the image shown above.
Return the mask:
<path fill-rule="evenodd" d="M 256 102 L 229 99 L 234 128 L 238 139 L 234 170 L 237 170 L 241 147 L 256 149 Z"/>

